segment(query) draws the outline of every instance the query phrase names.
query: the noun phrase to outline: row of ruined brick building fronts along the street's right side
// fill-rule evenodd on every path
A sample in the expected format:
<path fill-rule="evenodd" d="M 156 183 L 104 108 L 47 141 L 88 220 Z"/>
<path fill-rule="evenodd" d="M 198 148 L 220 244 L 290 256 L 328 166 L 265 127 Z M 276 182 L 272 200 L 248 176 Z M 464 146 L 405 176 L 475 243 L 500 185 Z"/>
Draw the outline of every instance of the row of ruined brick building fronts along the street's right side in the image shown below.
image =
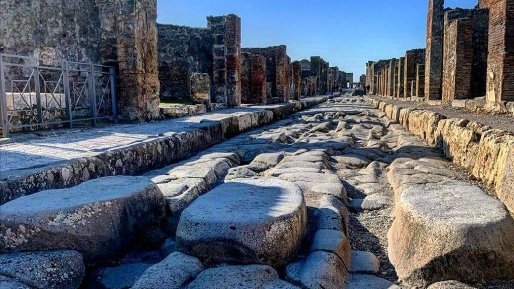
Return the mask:
<path fill-rule="evenodd" d="M 466 99 L 505 112 L 514 101 L 514 0 L 480 0 L 474 9 L 430 0 L 421 53 L 366 63 L 370 93 L 443 104 Z"/>

